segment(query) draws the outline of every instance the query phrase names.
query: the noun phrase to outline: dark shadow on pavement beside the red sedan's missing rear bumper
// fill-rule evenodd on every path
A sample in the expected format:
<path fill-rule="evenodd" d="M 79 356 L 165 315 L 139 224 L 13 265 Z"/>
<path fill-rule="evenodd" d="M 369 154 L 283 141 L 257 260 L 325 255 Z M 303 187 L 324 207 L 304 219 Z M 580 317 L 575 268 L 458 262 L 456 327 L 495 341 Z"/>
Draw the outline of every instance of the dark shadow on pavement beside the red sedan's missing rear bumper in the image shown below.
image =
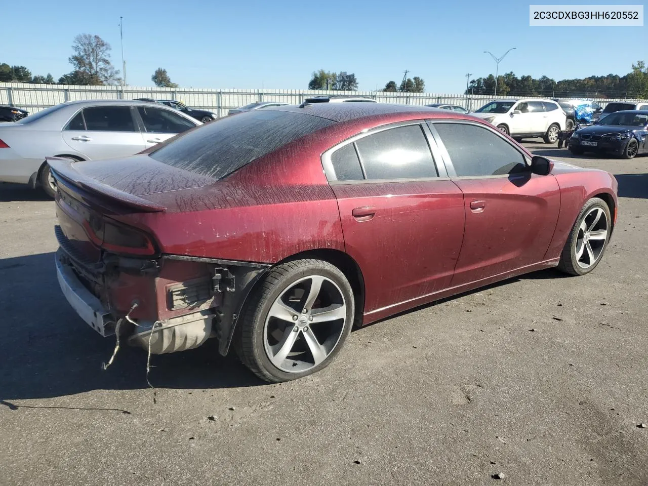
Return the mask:
<path fill-rule="evenodd" d="M 94 389 L 143 389 L 146 351 L 122 345 L 104 371 L 115 337 L 102 338 L 65 300 L 54 253 L 0 260 L 0 402 L 74 395 Z M 235 353 L 209 340 L 191 351 L 151 356 L 155 388 L 217 389 L 264 384 Z"/>

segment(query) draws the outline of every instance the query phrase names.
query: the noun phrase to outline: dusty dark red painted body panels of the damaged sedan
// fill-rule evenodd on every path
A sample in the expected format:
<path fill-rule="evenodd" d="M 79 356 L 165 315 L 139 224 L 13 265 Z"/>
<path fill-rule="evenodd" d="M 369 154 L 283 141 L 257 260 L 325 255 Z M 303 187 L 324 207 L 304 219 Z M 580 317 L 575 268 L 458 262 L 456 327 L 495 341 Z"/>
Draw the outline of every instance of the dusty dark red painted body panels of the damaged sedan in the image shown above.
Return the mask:
<path fill-rule="evenodd" d="M 555 266 L 579 210 L 591 196 L 605 194 L 616 214 L 613 176 L 561 163 L 555 163 L 548 176 L 330 185 L 321 155 L 363 130 L 426 119 L 470 119 L 487 125 L 444 110 L 354 108 L 355 115 L 220 181 L 169 167 L 148 154 L 51 165 L 71 187 L 85 182 L 95 196 L 106 194 L 93 201 L 95 196 L 77 191 L 75 197 L 87 203 L 89 211 L 102 211 L 104 205 L 111 218 L 150 234 L 162 254 L 275 264 L 305 251 L 346 253 L 364 279 L 364 323 Z M 114 204 L 106 205 L 109 200 Z M 120 201 L 133 205 L 119 210 Z M 133 209 L 138 201 L 141 209 Z M 354 216 L 354 209 L 364 207 L 373 213 Z M 58 215 L 67 237 L 96 256 L 97 246 L 84 235 L 83 211 L 59 209 Z M 113 299 L 124 309 L 130 303 L 126 297 L 137 295 L 150 301 L 141 308 L 142 315 L 168 318 L 163 288 L 205 273 L 204 266 L 193 265 L 174 262 L 155 285 L 151 277 L 128 277 L 119 283 L 127 291 L 115 292 Z"/>

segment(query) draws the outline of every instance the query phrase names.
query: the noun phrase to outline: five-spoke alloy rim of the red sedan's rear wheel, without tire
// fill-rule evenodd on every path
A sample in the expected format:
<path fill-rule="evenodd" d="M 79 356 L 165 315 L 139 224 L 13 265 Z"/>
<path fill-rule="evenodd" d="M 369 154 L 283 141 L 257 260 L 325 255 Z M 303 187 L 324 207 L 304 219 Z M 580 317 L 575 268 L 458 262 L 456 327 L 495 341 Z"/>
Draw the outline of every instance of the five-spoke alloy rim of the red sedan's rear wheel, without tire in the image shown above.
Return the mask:
<path fill-rule="evenodd" d="M 325 361 L 340 342 L 347 303 L 332 280 L 303 277 L 275 299 L 263 329 L 270 362 L 286 373 L 301 373 Z"/>

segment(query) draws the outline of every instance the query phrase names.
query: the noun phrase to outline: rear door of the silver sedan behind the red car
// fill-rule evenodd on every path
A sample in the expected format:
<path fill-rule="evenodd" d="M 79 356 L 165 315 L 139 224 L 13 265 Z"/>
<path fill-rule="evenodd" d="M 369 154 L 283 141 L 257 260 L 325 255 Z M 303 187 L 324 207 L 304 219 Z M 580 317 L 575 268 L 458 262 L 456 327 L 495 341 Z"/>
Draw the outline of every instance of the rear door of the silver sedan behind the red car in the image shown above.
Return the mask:
<path fill-rule="evenodd" d="M 76 113 L 63 132 L 67 145 L 87 159 L 110 159 L 144 150 L 130 106 L 90 106 Z"/>

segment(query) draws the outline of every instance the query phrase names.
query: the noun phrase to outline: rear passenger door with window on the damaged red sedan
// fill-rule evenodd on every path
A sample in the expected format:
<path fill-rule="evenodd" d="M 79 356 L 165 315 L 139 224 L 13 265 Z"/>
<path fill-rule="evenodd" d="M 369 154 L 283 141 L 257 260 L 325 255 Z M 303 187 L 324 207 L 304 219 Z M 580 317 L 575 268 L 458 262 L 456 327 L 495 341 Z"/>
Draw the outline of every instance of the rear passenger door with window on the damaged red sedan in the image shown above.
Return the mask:
<path fill-rule="evenodd" d="M 421 122 L 384 126 L 330 149 L 346 251 L 362 269 L 365 314 L 449 286 L 463 237 L 463 195 Z"/>

